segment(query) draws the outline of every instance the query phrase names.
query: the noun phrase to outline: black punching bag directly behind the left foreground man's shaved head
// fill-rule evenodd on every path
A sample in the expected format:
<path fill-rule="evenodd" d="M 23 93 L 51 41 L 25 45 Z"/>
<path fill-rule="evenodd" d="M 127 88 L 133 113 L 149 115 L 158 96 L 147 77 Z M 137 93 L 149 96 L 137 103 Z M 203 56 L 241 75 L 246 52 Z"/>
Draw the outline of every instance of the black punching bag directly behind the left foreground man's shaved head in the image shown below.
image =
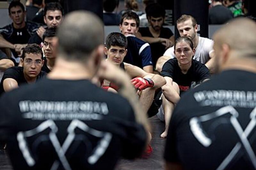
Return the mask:
<path fill-rule="evenodd" d="M 91 11 L 103 20 L 102 0 L 61 0 L 65 14 L 75 10 Z"/>

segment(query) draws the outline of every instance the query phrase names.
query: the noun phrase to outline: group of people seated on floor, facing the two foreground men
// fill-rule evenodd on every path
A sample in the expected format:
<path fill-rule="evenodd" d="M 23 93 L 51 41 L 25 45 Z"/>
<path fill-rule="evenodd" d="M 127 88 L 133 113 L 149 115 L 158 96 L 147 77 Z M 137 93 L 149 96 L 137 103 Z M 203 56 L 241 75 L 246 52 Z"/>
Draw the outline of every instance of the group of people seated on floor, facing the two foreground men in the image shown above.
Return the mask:
<path fill-rule="evenodd" d="M 157 3 L 151 6 L 154 8 L 147 10 L 150 26 L 145 28 L 139 29 L 140 20 L 136 13 L 126 11 L 121 18 L 121 33 L 110 33 L 107 36 L 104 52 L 108 61 L 118 65 L 133 78 L 131 82 L 140 91 L 138 95 L 141 107 L 148 112 L 148 117 L 157 114 L 165 122 L 165 130 L 161 134 L 165 138 L 173 108 L 180 95 L 209 79 L 208 69 L 214 72 L 213 41 L 196 34 L 198 27 L 195 18 L 182 15 L 177 20 L 181 38 L 173 42 L 172 31 L 163 27 L 164 8 Z M 25 12 L 20 2 L 10 4 L 9 11 L 14 9 L 19 9 L 20 13 Z M 19 44 L 22 46 L 19 51 L 20 65 L 5 71 L 0 94 L 23 83 L 34 83 L 52 70 L 56 59 L 56 52 L 53 50 L 56 27 L 60 25 L 62 16 L 63 10 L 59 3 L 46 4 L 44 22 L 47 28 L 41 26 L 34 34 L 31 33 L 28 45 Z M 24 15 L 22 17 L 19 24 L 14 18 L 10 26 L 23 25 L 27 28 L 28 23 L 24 21 Z M 4 31 L 1 33 L 4 34 Z M 12 33 L 11 37 L 14 35 Z M 6 39 L 9 40 L 8 37 Z M 8 42 L 7 40 L 2 38 L 3 42 Z M 42 45 L 44 53 L 40 52 L 39 45 Z M 41 61 L 33 58 L 34 55 L 41 58 Z M 118 86 L 108 80 L 101 81 L 101 86 L 108 91 L 118 92 Z"/>

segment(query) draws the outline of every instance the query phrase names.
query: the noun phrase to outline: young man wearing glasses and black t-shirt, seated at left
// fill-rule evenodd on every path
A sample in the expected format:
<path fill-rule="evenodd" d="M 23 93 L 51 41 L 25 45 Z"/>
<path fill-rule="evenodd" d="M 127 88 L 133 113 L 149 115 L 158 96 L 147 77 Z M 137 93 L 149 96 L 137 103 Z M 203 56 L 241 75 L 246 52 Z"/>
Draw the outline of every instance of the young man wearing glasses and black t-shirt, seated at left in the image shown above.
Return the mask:
<path fill-rule="evenodd" d="M 24 48 L 21 64 L 22 67 L 11 67 L 4 72 L 0 84 L 0 94 L 11 91 L 22 84 L 35 83 L 36 80 L 46 75 L 41 71 L 44 64 L 43 52 L 36 44 L 28 44 Z"/>

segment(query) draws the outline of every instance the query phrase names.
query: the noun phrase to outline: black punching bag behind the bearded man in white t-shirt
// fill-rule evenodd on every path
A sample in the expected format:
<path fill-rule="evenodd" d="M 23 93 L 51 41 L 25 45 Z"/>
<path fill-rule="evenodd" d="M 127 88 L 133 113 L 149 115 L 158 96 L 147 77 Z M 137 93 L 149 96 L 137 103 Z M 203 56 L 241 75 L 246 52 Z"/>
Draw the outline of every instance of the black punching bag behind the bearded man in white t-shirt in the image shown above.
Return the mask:
<path fill-rule="evenodd" d="M 180 36 L 176 21 L 183 14 L 193 16 L 199 26 L 197 33 L 201 37 L 208 38 L 208 12 L 209 2 L 207 0 L 174 0 L 175 39 Z"/>

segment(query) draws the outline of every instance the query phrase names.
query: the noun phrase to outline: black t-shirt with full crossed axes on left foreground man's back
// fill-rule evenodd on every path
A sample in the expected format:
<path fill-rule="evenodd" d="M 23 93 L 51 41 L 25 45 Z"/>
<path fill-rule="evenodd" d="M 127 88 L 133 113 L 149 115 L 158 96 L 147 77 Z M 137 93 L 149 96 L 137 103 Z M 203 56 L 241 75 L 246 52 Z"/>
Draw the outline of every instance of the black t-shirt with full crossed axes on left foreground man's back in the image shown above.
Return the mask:
<path fill-rule="evenodd" d="M 146 143 L 129 102 L 89 80 L 45 78 L 2 95 L 0 108 L 14 169 L 114 169 Z"/>

